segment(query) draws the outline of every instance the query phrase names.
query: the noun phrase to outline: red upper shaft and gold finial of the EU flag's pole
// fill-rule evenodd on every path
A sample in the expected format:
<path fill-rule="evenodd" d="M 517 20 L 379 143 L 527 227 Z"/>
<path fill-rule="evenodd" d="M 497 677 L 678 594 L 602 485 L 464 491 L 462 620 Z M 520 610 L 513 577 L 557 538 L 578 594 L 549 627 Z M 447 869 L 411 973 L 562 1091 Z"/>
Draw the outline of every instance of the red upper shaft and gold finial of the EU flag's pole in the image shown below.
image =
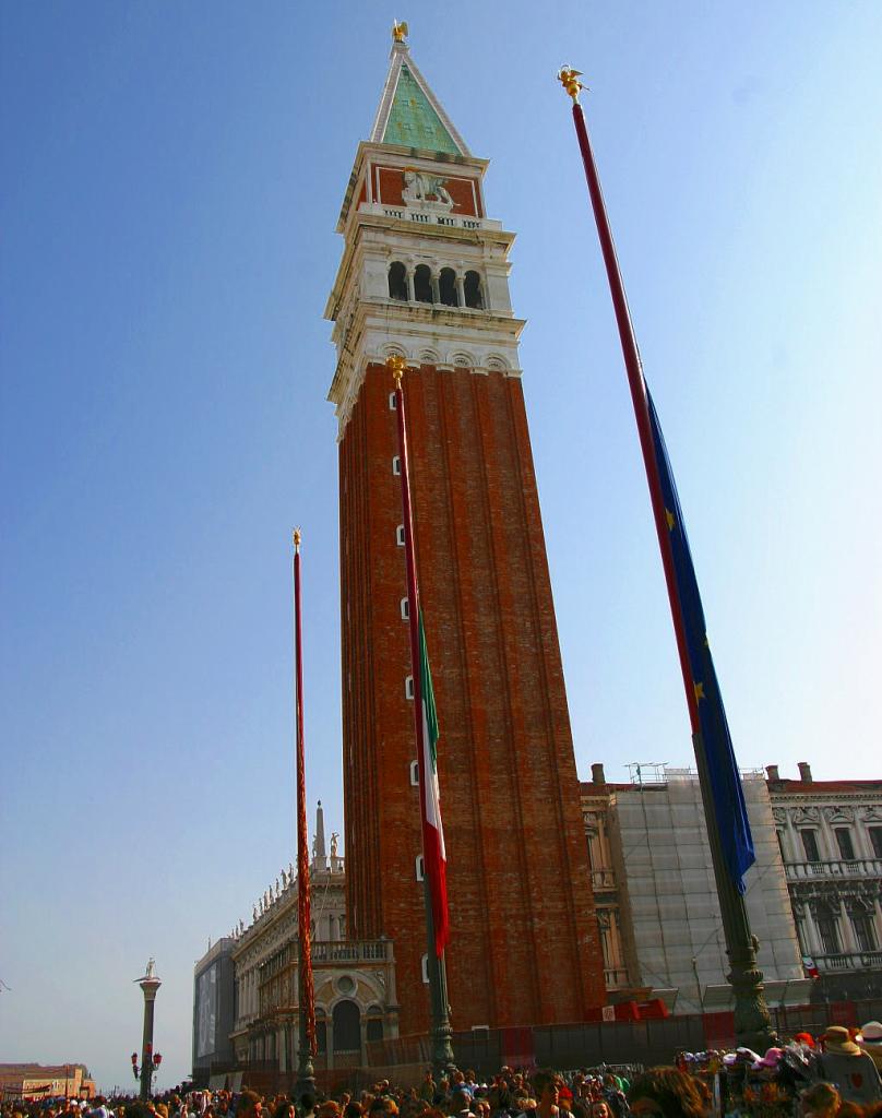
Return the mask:
<path fill-rule="evenodd" d="M 634 323 L 630 321 L 628 300 L 625 294 L 625 283 L 616 256 L 616 246 L 613 241 L 613 233 L 609 228 L 604 195 L 600 190 L 600 179 L 597 173 L 597 165 L 594 160 L 591 141 L 588 139 L 588 129 L 585 123 L 585 113 L 578 102 L 581 83 L 578 74 L 572 69 L 561 69 L 558 75 L 567 93 L 572 97 L 572 121 L 576 125 L 576 135 L 579 140 L 585 177 L 588 180 L 588 193 L 591 197 L 591 208 L 595 221 L 597 222 L 597 235 L 600 238 L 600 250 L 604 255 L 606 275 L 609 282 L 609 293 L 613 296 L 613 307 L 616 312 L 618 324 L 618 337 L 622 341 L 622 353 L 625 358 L 625 369 L 628 375 L 628 387 L 630 388 L 630 399 L 634 405 L 634 416 L 637 420 L 637 433 L 641 439 L 641 451 L 643 452 L 643 464 L 646 468 L 646 481 L 649 485 L 649 499 L 652 501 L 653 518 L 655 520 L 655 531 L 658 536 L 658 548 L 662 552 L 662 566 L 664 567 L 665 584 L 667 586 L 667 599 L 671 605 L 671 617 L 674 622 L 674 634 L 676 636 L 676 647 L 680 655 L 680 670 L 683 673 L 683 686 L 686 692 L 686 705 L 689 707 L 689 720 L 692 732 L 698 733 L 699 705 L 695 699 L 695 688 L 692 679 L 692 670 L 689 665 L 689 652 L 686 648 L 686 634 L 683 629 L 683 622 L 677 609 L 676 601 L 676 579 L 674 575 L 674 557 L 671 551 L 671 540 L 667 530 L 667 519 L 665 515 L 664 499 L 662 496 L 662 483 L 658 477 L 658 464 L 655 461 L 653 448 L 652 427 L 649 424 L 649 404 L 646 398 L 646 381 L 643 378 L 643 364 L 637 349 L 637 338 L 634 333 Z"/>

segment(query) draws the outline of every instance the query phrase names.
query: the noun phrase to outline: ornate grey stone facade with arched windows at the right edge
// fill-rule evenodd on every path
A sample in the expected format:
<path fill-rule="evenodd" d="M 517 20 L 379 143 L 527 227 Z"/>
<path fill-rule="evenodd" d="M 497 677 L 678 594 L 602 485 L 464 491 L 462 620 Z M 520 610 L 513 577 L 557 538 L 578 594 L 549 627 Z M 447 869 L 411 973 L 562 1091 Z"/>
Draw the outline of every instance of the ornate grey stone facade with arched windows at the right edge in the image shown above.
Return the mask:
<path fill-rule="evenodd" d="M 768 775 L 806 968 L 827 999 L 882 996 L 882 780 Z"/>

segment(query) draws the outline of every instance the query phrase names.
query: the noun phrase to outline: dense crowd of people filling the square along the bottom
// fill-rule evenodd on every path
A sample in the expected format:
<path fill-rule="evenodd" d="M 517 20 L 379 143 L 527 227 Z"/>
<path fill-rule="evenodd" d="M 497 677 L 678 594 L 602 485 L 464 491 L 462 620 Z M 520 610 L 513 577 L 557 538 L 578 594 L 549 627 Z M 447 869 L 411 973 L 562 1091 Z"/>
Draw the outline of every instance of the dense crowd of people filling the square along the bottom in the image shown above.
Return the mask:
<path fill-rule="evenodd" d="M 3 1102 L 0 1118 L 882 1118 L 882 1023 L 797 1033 L 765 1055 L 682 1052 L 672 1067 L 570 1071 L 427 1070 L 418 1087 L 388 1080 L 357 1097 L 263 1097 L 246 1089 L 170 1091 L 148 1102 Z"/>

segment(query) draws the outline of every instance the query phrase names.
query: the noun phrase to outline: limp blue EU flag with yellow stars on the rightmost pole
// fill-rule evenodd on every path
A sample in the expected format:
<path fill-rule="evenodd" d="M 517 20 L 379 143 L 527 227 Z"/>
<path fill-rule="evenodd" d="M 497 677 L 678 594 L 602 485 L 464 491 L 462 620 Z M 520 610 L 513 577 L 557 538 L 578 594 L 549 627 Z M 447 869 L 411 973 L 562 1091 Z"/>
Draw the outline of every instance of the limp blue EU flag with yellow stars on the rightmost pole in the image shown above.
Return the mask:
<path fill-rule="evenodd" d="M 674 474 L 671 470 L 664 436 L 648 388 L 646 396 L 649 405 L 655 461 L 658 466 L 667 520 L 667 536 L 674 560 L 677 608 L 683 620 L 692 685 L 695 689 L 702 739 L 700 748 L 703 748 L 708 764 L 723 858 L 730 877 L 738 885 L 739 892 L 743 893 L 745 873 L 756 861 L 753 839 L 750 834 L 745 794 L 741 789 L 741 778 L 732 749 L 729 723 L 725 720 L 720 684 L 717 681 L 713 657 L 708 644 L 704 610 L 701 607 L 695 568 L 692 565 L 692 555 L 689 550 L 683 511 L 680 508 Z"/>

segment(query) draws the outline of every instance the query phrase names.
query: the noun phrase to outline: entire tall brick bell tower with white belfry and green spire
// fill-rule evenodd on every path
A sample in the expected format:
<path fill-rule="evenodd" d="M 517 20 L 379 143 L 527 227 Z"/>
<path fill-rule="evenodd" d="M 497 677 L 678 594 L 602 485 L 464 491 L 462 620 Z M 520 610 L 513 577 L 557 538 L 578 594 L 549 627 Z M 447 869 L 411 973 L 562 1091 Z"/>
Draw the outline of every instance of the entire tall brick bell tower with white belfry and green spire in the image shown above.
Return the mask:
<path fill-rule="evenodd" d="M 350 934 L 393 940 L 424 1031 L 425 917 L 392 381 L 408 364 L 417 570 L 438 707 L 455 1030 L 605 1001 L 551 582 L 509 295 L 514 235 L 398 26 L 359 144 L 325 314 L 340 453 Z"/>

